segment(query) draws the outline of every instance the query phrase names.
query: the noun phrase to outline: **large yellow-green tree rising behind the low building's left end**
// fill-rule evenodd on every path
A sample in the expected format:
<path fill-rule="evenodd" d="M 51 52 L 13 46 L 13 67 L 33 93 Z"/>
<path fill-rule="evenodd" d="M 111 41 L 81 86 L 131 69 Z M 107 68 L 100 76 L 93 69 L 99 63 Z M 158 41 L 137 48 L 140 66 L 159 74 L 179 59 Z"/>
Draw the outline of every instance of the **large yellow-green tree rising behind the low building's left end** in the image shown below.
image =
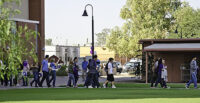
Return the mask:
<path fill-rule="evenodd" d="M 122 27 L 130 38 L 129 55 L 140 55 L 140 39 L 167 38 L 172 28 L 171 15 L 179 8 L 179 0 L 127 0 L 120 16 L 126 20 Z"/>

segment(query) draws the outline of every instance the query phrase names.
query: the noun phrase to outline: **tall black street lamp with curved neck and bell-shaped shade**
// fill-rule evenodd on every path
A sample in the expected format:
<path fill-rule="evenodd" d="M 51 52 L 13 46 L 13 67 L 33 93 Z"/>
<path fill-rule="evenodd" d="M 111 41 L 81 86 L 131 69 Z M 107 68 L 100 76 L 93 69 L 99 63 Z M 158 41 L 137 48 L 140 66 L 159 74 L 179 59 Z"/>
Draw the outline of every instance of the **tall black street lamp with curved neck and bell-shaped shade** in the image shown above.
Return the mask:
<path fill-rule="evenodd" d="M 88 16 L 87 14 L 87 6 L 91 6 L 92 7 L 92 58 L 94 57 L 94 16 L 93 16 L 93 6 L 91 4 L 87 4 L 85 6 L 85 10 L 83 12 L 83 15 L 82 16 Z"/>

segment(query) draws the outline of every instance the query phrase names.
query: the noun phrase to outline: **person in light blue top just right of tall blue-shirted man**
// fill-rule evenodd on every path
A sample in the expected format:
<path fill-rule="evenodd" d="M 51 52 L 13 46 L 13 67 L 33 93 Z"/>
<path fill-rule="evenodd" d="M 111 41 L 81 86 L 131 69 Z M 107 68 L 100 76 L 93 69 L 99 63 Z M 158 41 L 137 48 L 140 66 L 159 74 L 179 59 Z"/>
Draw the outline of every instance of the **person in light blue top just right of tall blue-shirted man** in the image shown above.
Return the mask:
<path fill-rule="evenodd" d="M 51 60 L 51 64 L 50 64 L 50 68 L 51 68 L 51 75 L 52 75 L 52 78 L 50 79 L 49 81 L 49 84 L 51 84 L 51 82 L 53 81 L 53 87 L 55 87 L 56 85 L 56 71 L 58 70 L 58 62 L 60 61 L 60 59 L 57 61 L 57 63 L 55 63 L 55 60 L 52 59 Z"/>

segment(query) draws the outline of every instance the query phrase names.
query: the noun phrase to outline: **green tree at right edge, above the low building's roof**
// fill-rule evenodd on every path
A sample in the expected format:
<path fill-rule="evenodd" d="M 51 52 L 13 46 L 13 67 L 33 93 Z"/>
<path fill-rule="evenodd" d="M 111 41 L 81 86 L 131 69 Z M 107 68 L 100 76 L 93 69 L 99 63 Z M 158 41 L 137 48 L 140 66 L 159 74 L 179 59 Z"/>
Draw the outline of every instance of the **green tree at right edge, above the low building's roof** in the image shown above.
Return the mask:
<path fill-rule="evenodd" d="M 176 10 L 173 17 L 175 18 L 175 27 L 173 31 L 178 33 L 170 34 L 170 38 L 197 38 L 200 37 L 200 10 L 194 9 L 188 3 L 182 3 L 182 6 Z M 172 32 L 173 32 L 172 31 Z"/>

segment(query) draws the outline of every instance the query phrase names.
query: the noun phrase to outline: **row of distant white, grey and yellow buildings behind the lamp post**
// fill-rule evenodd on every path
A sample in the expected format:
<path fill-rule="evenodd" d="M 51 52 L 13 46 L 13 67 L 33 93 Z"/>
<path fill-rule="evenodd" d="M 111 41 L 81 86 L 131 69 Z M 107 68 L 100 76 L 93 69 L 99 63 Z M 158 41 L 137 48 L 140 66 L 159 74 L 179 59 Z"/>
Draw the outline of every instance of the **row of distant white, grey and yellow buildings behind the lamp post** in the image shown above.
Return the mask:
<path fill-rule="evenodd" d="M 45 55 L 57 56 L 62 58 L 64 64 L 74 57 L 87 57 L 90 58 L 90 47 L 79 47 L 79 46 L 45 46 Z M 101 61 L 108 61 L 109 58 L 115 58 L 115 53 L 109 51 L 106 47 L 95 47 L 95 54 L 98 55 L 98 59 Z"/>

